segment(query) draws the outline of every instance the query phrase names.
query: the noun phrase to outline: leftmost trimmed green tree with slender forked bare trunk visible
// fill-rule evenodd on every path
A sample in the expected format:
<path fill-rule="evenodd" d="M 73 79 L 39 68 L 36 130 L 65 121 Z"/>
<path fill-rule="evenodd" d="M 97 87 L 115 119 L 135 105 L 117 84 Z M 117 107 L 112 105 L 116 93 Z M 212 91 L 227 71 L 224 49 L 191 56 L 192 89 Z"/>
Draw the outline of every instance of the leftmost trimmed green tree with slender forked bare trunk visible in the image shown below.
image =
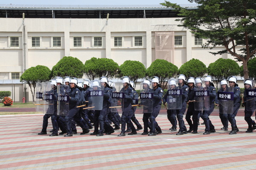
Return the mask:
<path fill-rule="evenodd" d="M 24 71 L 20 81 L 28 83 L 33 102 L 35 102 L 35 87 L 37 82 L 47 82 L 51 77 L 51 70 L 44 65 L 37 65 Z"/>

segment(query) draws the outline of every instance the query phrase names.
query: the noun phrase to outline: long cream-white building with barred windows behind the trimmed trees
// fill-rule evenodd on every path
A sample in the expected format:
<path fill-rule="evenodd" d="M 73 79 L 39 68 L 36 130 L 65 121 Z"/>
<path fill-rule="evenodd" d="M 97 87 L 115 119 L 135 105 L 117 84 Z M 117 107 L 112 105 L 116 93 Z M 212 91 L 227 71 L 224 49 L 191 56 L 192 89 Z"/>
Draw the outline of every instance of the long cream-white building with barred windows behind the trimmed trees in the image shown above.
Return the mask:
<path fill-rule="evenodd" d="M 177 13 L 160 5 L 0 4 L 0 91 L 11 91 L 15 102 L 23 97 L 32 101 L 28 86 L 18 80 L 20 75 L 36 65 L 52 69 L 64 56 L 83 63 L 91 57 L 109 58 L 119 65 L 137 60 L 146 68 L 155 59 L 166 59 L 178 68 L 192 58 L 207 66 L 220 57 L 233 59 L 228 54 L 213 56 L 209 49 L 201 48 L 205 40 L 178 27 L 175 19 Z"/>

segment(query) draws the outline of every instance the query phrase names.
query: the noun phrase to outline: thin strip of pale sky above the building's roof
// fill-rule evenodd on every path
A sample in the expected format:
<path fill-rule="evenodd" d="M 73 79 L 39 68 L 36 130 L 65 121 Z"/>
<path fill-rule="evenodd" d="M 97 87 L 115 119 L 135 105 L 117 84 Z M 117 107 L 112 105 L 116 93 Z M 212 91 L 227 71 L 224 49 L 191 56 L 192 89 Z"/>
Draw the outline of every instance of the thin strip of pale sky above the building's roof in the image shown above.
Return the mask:
<path fill-rule="evenodd" d="M 26 5 L 158 5 L 164 0 L 0 0 L 0 4 Z M 188 0 L 169 0 L 171 3 L 190 4 Z"/>

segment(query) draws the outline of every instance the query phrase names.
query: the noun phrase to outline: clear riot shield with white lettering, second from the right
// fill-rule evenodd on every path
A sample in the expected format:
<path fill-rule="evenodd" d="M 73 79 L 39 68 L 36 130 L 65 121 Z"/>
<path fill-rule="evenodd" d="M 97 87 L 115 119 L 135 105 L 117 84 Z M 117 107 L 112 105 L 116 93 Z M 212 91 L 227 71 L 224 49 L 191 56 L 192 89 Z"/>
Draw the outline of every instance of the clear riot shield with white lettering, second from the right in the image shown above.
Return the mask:
<path fill-rule="evenodd" d="M 233 114 L 234 93 L 228 91 L 218 91 L 219 111 L 223 114 Z"/>

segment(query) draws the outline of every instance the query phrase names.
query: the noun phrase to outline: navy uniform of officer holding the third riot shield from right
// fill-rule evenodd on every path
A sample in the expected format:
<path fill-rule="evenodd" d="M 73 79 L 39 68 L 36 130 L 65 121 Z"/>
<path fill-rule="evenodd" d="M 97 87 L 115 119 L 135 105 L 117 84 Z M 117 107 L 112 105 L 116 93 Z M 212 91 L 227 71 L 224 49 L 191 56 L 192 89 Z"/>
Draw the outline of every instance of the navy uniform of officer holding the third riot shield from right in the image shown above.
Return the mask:
<path fill-rule="evenodd" d="M 216 90 L 213 86 L 209 87 L 204 87 L 204 90 L 209 90 L 209 110 L 208 111 L 203 111 L 202 113 L 202 119 L 204 120 L 205 123 L 205 131 L 210 131 L 214 130 L 214 126 L 212 125 L 212 122 L 209 119 L 210 114 L 212 113 L 214 109 L 214 100 L 216 97 Z"/>

